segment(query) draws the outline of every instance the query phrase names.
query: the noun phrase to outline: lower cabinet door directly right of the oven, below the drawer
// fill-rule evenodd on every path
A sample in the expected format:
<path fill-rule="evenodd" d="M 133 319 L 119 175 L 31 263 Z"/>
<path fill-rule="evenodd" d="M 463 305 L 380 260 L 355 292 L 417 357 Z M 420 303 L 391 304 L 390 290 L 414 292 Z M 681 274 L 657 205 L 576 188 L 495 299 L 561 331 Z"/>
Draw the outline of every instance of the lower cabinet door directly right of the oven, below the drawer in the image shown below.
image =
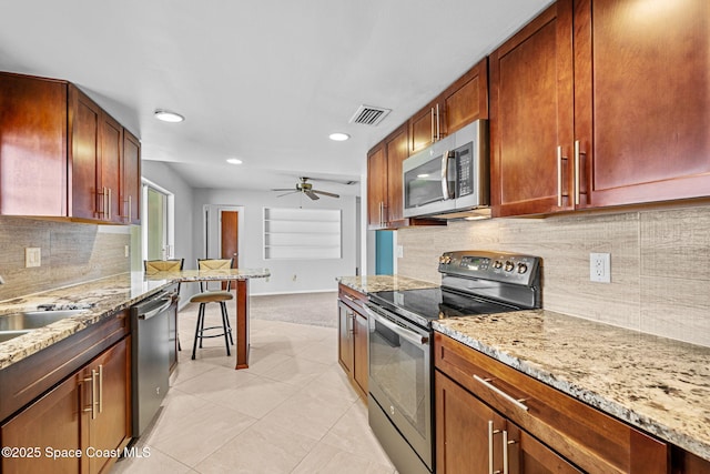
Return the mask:
<path fill-rule="evenodd" d="M 436 472 L 503 472 L 505 420 L 438 371 L 435 371 L 434 386 Z"/>

